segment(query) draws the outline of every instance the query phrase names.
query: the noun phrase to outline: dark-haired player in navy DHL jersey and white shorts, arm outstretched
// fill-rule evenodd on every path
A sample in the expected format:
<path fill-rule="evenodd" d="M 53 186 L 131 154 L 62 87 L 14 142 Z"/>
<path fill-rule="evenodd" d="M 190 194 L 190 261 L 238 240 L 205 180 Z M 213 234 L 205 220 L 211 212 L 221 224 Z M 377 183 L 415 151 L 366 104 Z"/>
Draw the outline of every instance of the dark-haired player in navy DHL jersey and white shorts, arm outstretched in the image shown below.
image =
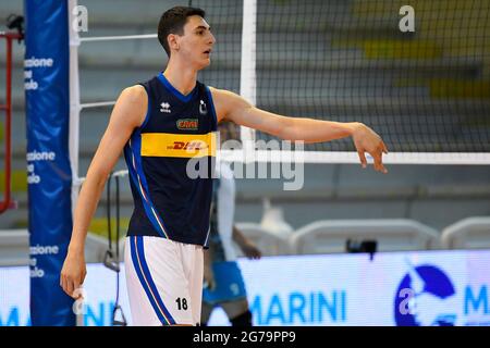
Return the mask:
<path fill-rule="evenodd" d="M 118 98 L 79 192 L 60 283 L 74 296 L 84 282 L 88 225 L 124 150 L 135 203 L 124 257 L 133 323 L 195 325 L 200 316 L 212 177 L 191 178 L 186 167 L 194 157 L 200 158 L 199 164 L 212 165 L 218 122 L 305 142 L 352 137 L 363 166 L 368 152 L 375 170 L 383 173 L 387 148 L 362 123 L 278 115 L 197 82 L 198 71 L 210 64 L 216 42 L 203 10 L 177 7 L 163 13 L 159 40 L 169 53 L 167 69 Z"/>

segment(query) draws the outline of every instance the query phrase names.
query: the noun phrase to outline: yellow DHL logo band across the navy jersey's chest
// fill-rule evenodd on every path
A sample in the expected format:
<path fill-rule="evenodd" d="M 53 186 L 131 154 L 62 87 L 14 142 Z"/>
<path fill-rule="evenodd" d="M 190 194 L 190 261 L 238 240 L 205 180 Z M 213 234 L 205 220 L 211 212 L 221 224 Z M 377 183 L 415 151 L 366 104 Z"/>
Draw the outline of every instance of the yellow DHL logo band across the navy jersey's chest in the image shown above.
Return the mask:
<path fill-rule="evenodd" d="M 216 133 L 143 133 L 142 156 L 182 158 L 216 156 Z"/>

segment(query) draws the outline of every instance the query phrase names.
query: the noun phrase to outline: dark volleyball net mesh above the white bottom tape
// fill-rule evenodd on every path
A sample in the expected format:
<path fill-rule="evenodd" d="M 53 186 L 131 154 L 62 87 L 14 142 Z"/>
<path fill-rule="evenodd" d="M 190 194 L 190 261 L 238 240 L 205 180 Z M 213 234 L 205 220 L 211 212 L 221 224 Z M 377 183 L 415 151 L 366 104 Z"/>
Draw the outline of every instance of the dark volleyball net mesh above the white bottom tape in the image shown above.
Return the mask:
<path fill-rule="evenodd" d="M 203 79 L 237 91 L 242 1 L 208 4 L 193 1 L 209 13 L 218 40 Z M 257 105 L 291 116 L 363 122 L 390 151 L 489 152 L 490 1 L 414 0 L 414 21 L 404 5 L 257 1 Z M 406 30 L 412 24 L 415 32 Z M 257 139 L 271 138 L 257 133 Z M 306 149 L 354 147 L 342 139 Z"/>

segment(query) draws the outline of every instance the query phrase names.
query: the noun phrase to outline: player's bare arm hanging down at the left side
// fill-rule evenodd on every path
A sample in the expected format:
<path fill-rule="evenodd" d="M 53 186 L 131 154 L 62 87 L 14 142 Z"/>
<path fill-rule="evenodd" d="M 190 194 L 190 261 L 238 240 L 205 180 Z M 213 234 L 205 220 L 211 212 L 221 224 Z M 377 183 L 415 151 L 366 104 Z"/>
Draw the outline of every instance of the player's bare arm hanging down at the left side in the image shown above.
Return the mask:
<path fill-rule="evenodd" d="M 106 133 L 88 167 L 76 203 L 68 256 L 61 270 L 60 285 L 70 296 L 74 295 L 73 291 L 85 279 L 85 239 L 106 181 L 133 129 L 143 124 L 148 99 L 143 86 L 128 87 L 121 92 Z"/>

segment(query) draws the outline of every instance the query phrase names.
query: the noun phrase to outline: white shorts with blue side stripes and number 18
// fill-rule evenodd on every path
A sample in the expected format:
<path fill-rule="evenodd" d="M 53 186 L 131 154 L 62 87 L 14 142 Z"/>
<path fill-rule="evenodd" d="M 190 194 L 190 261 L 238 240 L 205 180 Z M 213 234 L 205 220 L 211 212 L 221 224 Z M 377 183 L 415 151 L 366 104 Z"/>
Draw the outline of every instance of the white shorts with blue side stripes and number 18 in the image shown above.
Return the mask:
<path fill-rule="evenodd" d="M 203 257 L 201 246 L 126 237 L 124 263 L 133 325 L 199 324 Z"/>

